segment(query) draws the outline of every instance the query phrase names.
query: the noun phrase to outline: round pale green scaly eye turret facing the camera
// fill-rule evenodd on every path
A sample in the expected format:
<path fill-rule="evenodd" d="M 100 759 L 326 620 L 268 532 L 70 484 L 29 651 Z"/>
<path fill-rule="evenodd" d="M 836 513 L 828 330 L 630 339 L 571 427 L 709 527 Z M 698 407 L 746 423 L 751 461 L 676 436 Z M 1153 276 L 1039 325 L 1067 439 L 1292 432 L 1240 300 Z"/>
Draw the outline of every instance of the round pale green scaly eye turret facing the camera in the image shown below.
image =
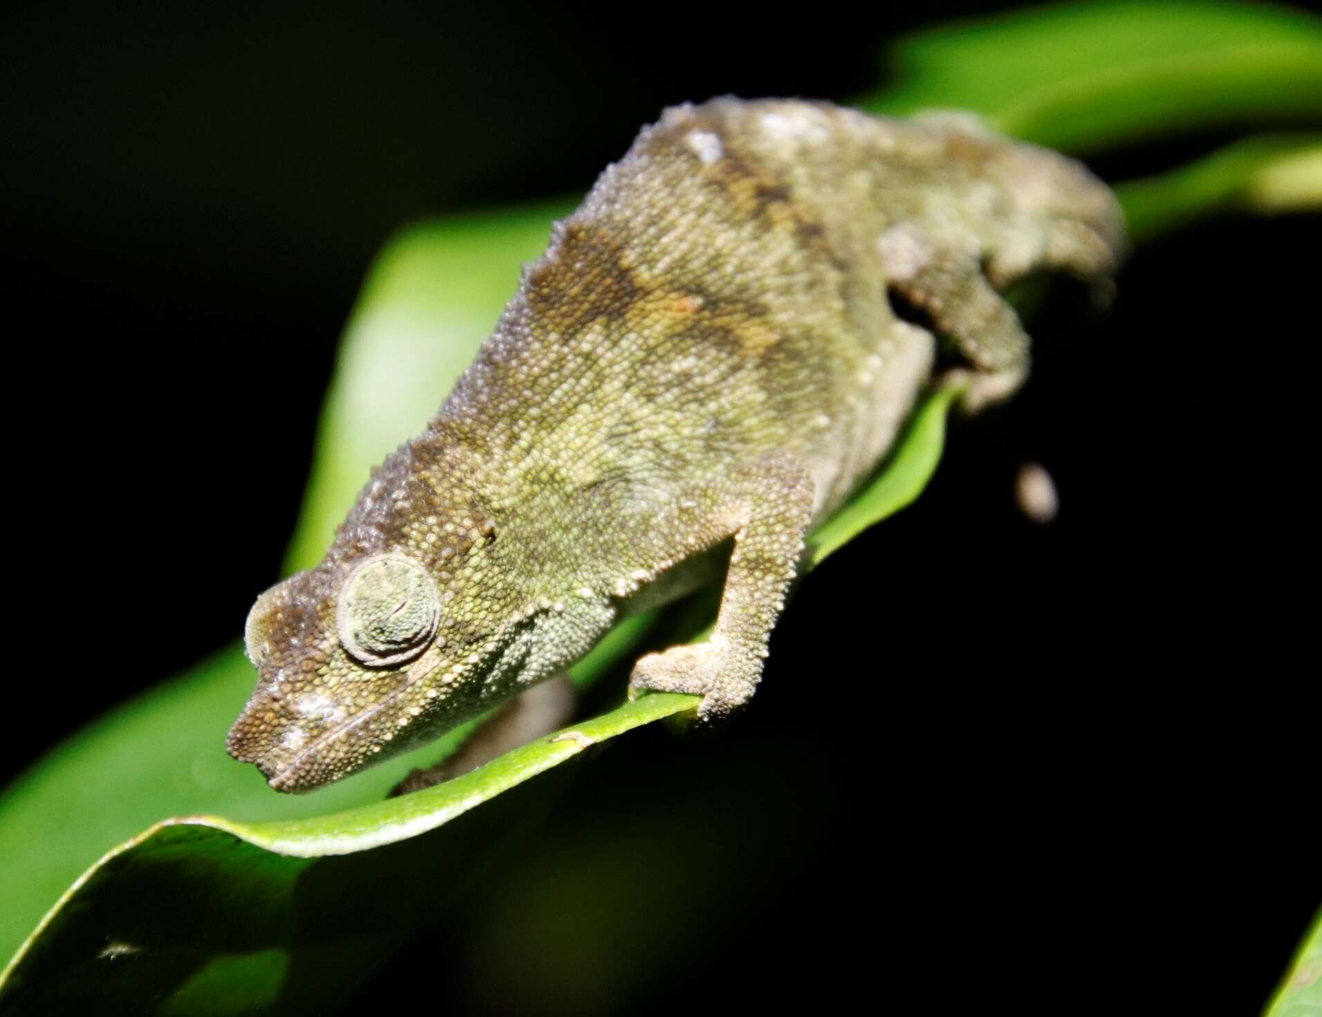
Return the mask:
<path fill-rule="evenodd" d="M 345 580 L 336 627 L 345 651 L 370 667 L 418 656 L 436 635 L 440 594 L 427 569 L 403 555 L 369 557 Z"/>

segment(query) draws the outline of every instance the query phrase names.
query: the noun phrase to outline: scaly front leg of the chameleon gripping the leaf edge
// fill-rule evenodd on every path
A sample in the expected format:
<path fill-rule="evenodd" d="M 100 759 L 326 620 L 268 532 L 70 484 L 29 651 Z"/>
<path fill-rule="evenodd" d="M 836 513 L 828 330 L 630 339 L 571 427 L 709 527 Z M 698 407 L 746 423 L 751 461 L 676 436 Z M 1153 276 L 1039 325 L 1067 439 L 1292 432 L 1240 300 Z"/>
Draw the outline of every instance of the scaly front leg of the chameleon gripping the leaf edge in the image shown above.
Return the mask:
<path fill-rule="evenodd" d="M 748 701 L 761 679 L 767 639 L 785 605 L 812 520 L 813 479 L 793 457 L 776 456 L 736 470 L 683 503 L 705 510 L 698 553 L 734 538 L 720 609 L 702 643 L 648 654 L 633 667 L 629 696 L 644 689 L 701 695 L 699 720 L 726 717 Z"/>

